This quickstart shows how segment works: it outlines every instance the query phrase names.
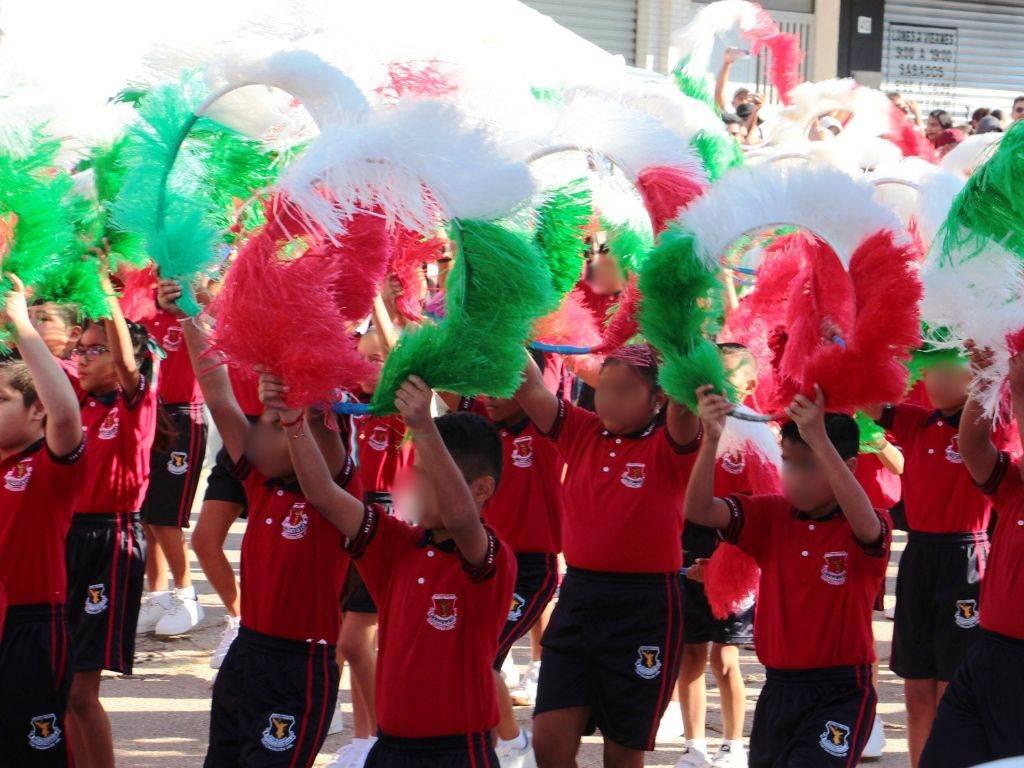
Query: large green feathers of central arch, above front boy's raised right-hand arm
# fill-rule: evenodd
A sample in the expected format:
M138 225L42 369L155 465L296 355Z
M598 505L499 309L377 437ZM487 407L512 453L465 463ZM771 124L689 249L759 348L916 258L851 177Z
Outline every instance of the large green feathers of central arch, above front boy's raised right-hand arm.
M398 387L417 375L433 389L511 397L534 323L552 304L543 254L524 234L485 221L454 221L457 257L446 314L401 337L381 371L371 409L394 413Z

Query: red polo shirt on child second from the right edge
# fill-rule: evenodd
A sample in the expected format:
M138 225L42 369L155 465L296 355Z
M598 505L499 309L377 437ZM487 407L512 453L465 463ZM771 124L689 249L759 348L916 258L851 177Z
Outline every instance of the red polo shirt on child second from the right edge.
M910 530L969 534L988 526L992 503L979 493L959 455L959 414L908 403L885 410L881 425L905 457L903 504Z

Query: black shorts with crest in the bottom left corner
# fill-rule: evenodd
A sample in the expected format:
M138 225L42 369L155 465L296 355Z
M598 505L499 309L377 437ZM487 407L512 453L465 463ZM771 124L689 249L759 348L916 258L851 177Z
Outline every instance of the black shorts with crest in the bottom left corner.
M9 768L71 765L68 623L62 605L11 605L0 641L0 722Z

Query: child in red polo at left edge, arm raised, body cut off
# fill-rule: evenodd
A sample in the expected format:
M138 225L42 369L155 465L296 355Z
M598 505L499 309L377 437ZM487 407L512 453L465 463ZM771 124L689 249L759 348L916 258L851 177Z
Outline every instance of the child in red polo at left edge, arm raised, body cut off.
M65 539L85 475L82 417L68 377L29 318L20 281L5 297L22 362L0 365L0 640L3 763L68 766L71 684Z

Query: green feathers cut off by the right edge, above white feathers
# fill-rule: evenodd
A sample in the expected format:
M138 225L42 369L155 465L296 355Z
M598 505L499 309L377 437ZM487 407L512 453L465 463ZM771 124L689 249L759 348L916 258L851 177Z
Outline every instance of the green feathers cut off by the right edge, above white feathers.
M1024 120L1002 136L995 154L978 168L953 200L943 224L943 263L951 254L978 254L987 241L1024 260Z

